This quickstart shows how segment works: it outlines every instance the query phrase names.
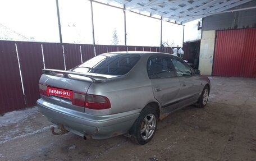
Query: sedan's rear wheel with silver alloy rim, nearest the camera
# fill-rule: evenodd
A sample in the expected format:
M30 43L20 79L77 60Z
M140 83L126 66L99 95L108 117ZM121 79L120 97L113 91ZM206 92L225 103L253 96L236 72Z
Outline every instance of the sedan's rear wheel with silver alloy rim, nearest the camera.
M157 130L157 112L149 105L145 107L130 130L131 141L135 144L147 144Z

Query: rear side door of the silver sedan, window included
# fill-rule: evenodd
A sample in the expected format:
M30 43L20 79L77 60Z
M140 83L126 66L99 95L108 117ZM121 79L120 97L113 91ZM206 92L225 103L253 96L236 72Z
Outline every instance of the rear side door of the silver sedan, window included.
M147 65L148 76L152 82L154 97L161 103L162 112L177 108L180 96L180 82L176 77L171 57L152 56Z

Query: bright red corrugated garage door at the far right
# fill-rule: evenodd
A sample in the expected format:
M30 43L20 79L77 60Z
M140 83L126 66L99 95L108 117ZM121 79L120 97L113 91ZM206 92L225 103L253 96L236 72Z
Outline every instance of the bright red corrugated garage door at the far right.
M217 31L213 76L256 77L256 28Z

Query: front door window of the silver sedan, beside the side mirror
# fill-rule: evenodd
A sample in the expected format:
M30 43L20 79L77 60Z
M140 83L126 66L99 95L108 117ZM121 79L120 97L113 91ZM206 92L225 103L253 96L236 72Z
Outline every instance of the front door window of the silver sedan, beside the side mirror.
M172 58L172 63L177 72L177 76L191 76L190 67L186 64L186 62L181 61L180 59Z

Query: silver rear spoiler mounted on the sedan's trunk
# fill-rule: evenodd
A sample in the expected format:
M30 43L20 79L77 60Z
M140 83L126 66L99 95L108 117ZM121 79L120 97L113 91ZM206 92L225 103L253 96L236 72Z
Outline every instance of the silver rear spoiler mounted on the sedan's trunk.
M73 72L73 71L63 71L63 70L53 70L53 69L43 69L42 71L45 75L54 75L54 76L56 76L57 74L62 74L63 77L66 77L66 78L68 78L68 74L84 76L84 77L88 77L93 82L100 81L102 79L107 79L106 77L102 77L102 76L90 76L90 75L86 75L84 73ZM95 77L99 78L99 80L95 79Z

